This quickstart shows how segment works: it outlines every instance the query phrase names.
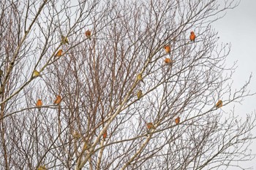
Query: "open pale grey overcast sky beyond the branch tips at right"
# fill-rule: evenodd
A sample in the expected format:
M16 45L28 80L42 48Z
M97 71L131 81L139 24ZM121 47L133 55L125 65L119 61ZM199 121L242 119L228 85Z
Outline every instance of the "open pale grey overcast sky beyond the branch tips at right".
M236 88L241 87L252 73L249 89L256 92L256 0L241 0L238 7L228 10L224 18L214 23L214 27L219 32L219 40L232 45L227 63L238 61L238 68L233 76ZM245 98L242 105L236 104L239 115L252 113L255 109L256 96ZM256 129L253 134L256 136ZM256 153L256 140L251 149ZM256 159L246 164L241 163L243 164L256 169Z

